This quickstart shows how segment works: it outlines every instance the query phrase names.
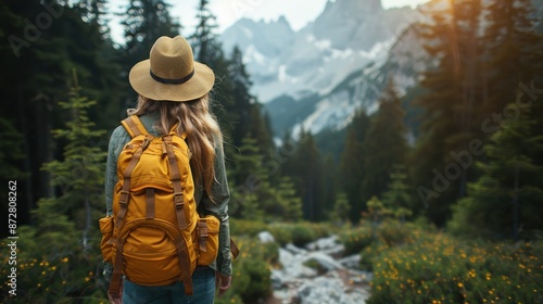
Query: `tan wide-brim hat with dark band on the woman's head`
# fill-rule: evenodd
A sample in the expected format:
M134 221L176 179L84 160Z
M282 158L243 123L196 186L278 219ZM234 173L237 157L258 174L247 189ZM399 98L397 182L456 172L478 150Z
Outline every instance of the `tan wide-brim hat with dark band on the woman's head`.
M215 84L215 74L207 65L194 61L187 39L163 36L154 42L149 59L130 69L128 79L143 97L182 102L205 96Z

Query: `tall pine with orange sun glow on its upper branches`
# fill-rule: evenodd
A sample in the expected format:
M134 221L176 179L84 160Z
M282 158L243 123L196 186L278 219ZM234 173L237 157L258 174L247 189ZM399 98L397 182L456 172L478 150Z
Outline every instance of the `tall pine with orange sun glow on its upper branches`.
M416 101L422 109L420 138L409 161L417 197L439 225L445 223L450 206L465 194L473 173L464 169L443 189L433 189L434 172L443 172L452 161L451 152L466 149L481 132L478 101L482 99L479 79L483 78L478 42L481 1L451 0L447 4L446 9L428 11L431 23L420 26L425 50L438 60L438 66L422 73L420 86L426 93Z

